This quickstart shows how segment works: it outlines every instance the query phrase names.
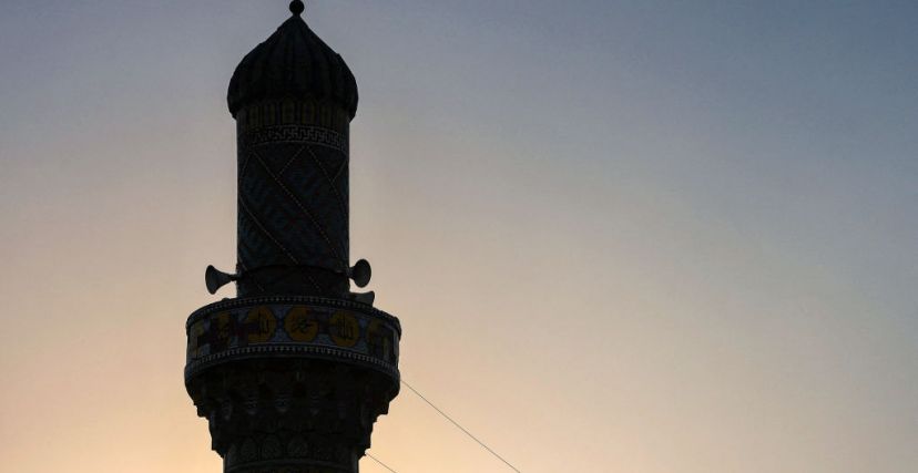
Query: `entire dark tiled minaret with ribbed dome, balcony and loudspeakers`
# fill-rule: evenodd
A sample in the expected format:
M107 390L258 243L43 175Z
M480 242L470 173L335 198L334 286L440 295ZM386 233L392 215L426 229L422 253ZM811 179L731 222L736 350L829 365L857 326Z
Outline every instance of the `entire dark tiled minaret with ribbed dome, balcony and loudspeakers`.
M238 147L237 297L188 317L185 387L226 473L356 473L398 394L395 317L349 265L348 141L357 83L293 16L230 82Z

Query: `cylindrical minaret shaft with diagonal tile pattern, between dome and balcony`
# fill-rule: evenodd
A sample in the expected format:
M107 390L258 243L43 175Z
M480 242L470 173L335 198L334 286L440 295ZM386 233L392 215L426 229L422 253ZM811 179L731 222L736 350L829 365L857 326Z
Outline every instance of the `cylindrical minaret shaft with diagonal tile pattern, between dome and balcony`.
M239 296L334 292L329 284L346 284L346 143L344 134L292 124L239 136Z

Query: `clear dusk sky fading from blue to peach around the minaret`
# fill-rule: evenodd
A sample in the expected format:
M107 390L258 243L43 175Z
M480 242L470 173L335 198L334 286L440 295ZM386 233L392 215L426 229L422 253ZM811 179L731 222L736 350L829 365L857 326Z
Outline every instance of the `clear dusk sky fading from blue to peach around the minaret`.
M221 471L184 322L286 3L3 0L4 471ZM402 376L520 470L915 471L918 3L308 3ZM371 453L507 471L407 391Z

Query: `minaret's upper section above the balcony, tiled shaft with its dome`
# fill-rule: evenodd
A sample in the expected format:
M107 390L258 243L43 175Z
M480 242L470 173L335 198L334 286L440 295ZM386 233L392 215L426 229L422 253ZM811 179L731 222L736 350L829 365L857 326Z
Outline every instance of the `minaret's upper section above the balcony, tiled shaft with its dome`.
M239 297L340 297L354 74L294 14L242 60L228 103L238 140Z

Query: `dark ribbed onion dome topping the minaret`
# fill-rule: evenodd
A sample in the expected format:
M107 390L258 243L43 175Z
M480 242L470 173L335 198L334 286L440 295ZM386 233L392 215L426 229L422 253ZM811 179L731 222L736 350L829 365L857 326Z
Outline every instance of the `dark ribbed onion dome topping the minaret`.
M294 13L243 58L230 81L230 113L274 99L328 100L357 113L357 82L344 59Z

